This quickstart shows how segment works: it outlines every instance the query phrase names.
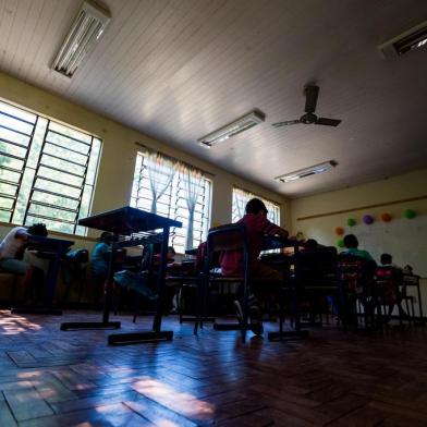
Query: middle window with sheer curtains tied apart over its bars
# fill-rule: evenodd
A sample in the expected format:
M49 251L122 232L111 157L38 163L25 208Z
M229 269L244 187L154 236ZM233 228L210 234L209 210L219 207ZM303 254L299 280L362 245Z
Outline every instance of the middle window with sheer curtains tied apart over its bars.
M188 182L192 172L195 175ZM196 247L206 239L210 193L211 181L199 171L159 154L137 154L131 206L181 221L183 227L172 229L170 239L178 253L183 254L187 246Z

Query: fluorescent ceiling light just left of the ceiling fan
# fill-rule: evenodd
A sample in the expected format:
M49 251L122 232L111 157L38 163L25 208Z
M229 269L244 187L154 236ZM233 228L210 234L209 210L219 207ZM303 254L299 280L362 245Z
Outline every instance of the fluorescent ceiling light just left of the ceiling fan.
M237 135L241 132L247 131L248 129L254 127L259 123L263 123L265 120L266 114L264 112L259 110L254 110L248 114L243 115L237 120L234 120L234 122L231 122L225 126L222 126L219 130L213 131L202 138L198 138L197 143L206 148L210 148L211 146L222 143L223 141L231 138L232 136Z

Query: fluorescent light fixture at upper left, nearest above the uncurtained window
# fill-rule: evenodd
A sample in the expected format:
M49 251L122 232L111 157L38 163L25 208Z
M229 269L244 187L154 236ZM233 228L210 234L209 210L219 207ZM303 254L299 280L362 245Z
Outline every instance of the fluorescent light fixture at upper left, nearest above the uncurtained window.
M52 69L71 78L83 58L98 42L110 19L107 10L86 0L59 49Z

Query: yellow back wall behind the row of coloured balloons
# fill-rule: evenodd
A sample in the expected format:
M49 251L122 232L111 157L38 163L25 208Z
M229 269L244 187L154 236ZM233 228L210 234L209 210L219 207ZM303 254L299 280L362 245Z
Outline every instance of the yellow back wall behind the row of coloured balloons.
M427 259L427 199L415 202L405 202L396 205L386 205L377 208L355 210L354 208L386 204L388 202L401 200L412 197L427 195L427 169L414 171L403 175L393 176L382 181L371 182L365 185L358 185L335 192L319 194L312 197L304 197L292 200L292 231L302 231L306 236L314 237L320 243L334 245L338 235L334 233L337 227L343 227L345 232L359 233L365 236L365 242L361 240L361 247L367 251L377 249L383 252L392 252L396 263L414 263L419 265L423 276L427 269L424 259ZM403 218L403 211L412 208L417 212L417 218L410 221ZM333 212L343 209L354 209L350 212L329 215L314 219L298 220L298 218L315 216L326 212ZM380 221L380 216L389 212L393 216L393 220L389 224ZM376 218L376 222L370 225L362 225L362 217L370 213ZM347 218L355 218L359 225L350 228L346 225ZM406 228L407 233L402 230ZM378 247L380 242L373 241L375 236L379 236L379 232L388 233L387 242L389 247ZM398 234L400 232L401 234ZM399 240L393 239L393 233L399 235ZM386 236L386 234L385 234ZM371 245L371 246L370 246ZM391 247L390 247L391 246ZM415 254L416 253L416 254Z

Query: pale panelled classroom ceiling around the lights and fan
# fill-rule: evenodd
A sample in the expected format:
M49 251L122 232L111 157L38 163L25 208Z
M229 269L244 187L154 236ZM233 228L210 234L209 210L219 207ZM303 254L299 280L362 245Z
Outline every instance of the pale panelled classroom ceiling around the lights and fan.
M378 50L427 20L425 0L103 0L111 24L69 80L50 65L81 3L0 0L0 69L289 197L427 166L427 48ZM312 82L316 112L342 123L273 129L300 118ZM196 144L254 108L265 123Z

